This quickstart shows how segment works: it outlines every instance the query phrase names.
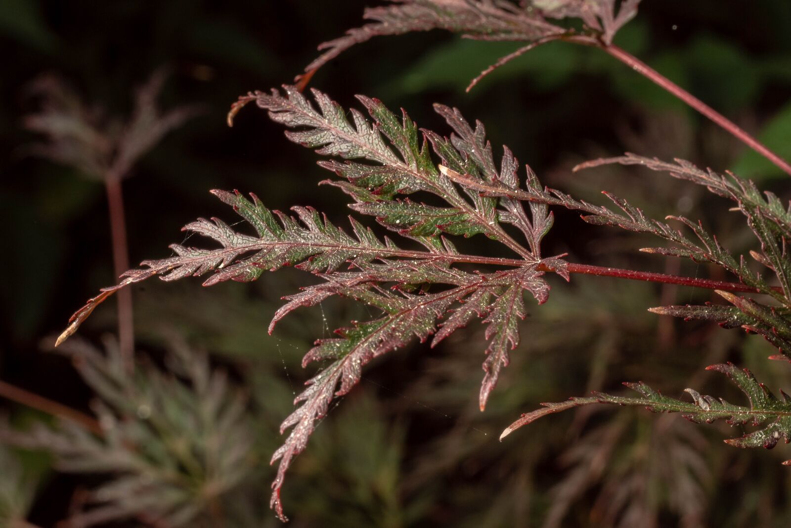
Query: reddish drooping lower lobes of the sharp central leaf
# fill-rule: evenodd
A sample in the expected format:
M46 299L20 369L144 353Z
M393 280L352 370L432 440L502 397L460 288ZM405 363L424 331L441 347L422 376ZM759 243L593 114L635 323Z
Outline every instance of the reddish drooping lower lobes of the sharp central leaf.
M413 264L414 265L414 264ZM280 501L280 489L293 457L301 453L308 438L316 427L316 420L327 414L334 397L348 393L361 376L366 363L379 355L403 347L414 338L424 341L433 334L436 321L445 316L455 302L464 302L448 317L440 332L434 337L432 346L444 339L454 330L466 325L472 317L486 317L489 323L486 338L491 339L490 354L484 362L486 377L481 389L481 410L486 398L497 383L499 370L507 365L507 348L515 348L519 342L517 321L524 317L525 290L539 302L547 300L549 286L541 278L542 272L535 266L492 274L472 275L446 268L435 268L426 275L426 265L414 265L414 279L409 278L408 267L396 273L407 273L395 277L393 270L383 268L380 274L376 269L364 272L323 275L326 284L307 287L301 294L293 295L290 302L275 315L275 320L283 317L297 306L312 306L331 294L340 294L376 306L385 315L373 321L357 323L353 327L336 330L339 338L324 339L316 342L316 347L308 351L303 366L312 361L333 359L328 367L308 381L305 389L294 400L302 404L281 425L281 431L294 426L285 443L275 451L272 463L280 460L278 476L272 484L274 490L271 507L285 519ZM398 279L401 283L453 284L449 290L433 294L400 294L382 290L378 284ZM494 298L494 302L491 299ZM274 322L274 321L273 321ZM337 389L336 389L337 388Z

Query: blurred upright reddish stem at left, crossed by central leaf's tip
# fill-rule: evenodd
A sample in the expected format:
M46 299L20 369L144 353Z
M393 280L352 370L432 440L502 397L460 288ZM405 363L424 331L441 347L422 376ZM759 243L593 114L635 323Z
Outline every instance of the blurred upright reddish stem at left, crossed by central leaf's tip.
M129 266L127 249L127 222L123 212L123 189L121 178L108 175L104 178L110 211L110 231L112 237L112 263L115 276L126 272ZM134 365L134 314L132 312L132 292L124 289L118 294L118 340L121 357L128 371Z

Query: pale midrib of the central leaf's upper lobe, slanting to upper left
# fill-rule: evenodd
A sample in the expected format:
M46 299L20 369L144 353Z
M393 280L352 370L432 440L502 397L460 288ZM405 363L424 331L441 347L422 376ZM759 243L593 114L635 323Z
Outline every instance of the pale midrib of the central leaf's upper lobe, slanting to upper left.
M304 109L300 108L296 104L293 104L290 98L288 97L281 97L281 99L284 102L287 101L287 103L289 104L290 112L297 112L301 116L307 117L313 123L316 123L316 128L327 128L327 127L331 128L331 130L335 134L343 137L343 139L345 139L346 141L352 142L355 145L360 146L362 150L371 153L373 159L382 160L382 156L384 155L387 158L386 161L389 161L390 163L392 163L392 165L399 167L399 169L402 169L405 173L408 173L411 176L415 177L416 179L422 181L423 184L428 185L430 188L433 189L433 192L437 194L437 196L441 196L442 198L446 199L448 203L450 203L453 207L457 207L460 209L460 211L463 211L467 215L471 215L473 218L475 218L478 221L479 225L483 226L483 230L487 235L502 241L502 243L507 245L509 249L513 250L513 252L524 257L525 259L532 258L528 249L525 249L522 245L519 244L519 242L513 240L513 237L505 233L505 230L503 230L501 226L498 226L497 223L494 223L494 225L490 225L488 220L484 218L483 215L479 214L479 211L477 211L474 207L470 207L470 204L467 203L467 200L459 196L455 188L440 187L435 182L430 180L430 178L427 178L421 171L412 167L411 165L403 161L401 158L396 156L392 150L388 148L386 148L384 152L378 152L377 150L373 150L371 146L369 146L365 142L361 142L360 139L358 139L358 135L350 135L346 133L346 131L344 131L342 128L336 127L335 125L331 124L328 120L321 120L315 115L312 115L309 112L305 112Z

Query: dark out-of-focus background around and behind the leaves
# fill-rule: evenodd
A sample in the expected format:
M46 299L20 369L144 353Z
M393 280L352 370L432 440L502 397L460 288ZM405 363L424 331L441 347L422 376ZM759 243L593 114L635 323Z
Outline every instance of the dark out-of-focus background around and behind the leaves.
M132 169L123 188L129 253L136 263L168 256L193 218L235 221L212 188L255 192L267 207L310 205L343 223L348 201L317 188L330 174L316 154L287 141L254 108L225 124L229 104L252 89L291 82L316 45L360 25L370 2L0 2L0 222L4 226L0 379L82 410L91 393L67 359L41 351L81 302L114 283L102 185L78 170L28 155L40 141L23 117L36 112L29 86L55 74L108 116L131 112L134 89L162 66L161 108L199 104L187 121ZM691 93L791 158L791 3L645 0L616 39ZM784 175L626 66L600 51L555 43L517 59L471 93L467 82L517 44L462 40L441 32L374 39L325 66L311 85L345 107L354 94L407 108L422 127L448 130L435 101L479 119L495 150L503 143L544 184L603 203L611 190L649 215L702 218L736 252L749 231L705 190L656 173L598 169L579 161L625 150L733 169L788 199ZM570 260L712 276L635 250L656 241L587 226L558 211L545 253ZM194 241L194 239L192 240ZM192 242L191 241L191 242ZM475 248L477 241L469 241ZM486 251L482 249L474 249ZM725 277L723 277L725 278ZM163 348L163 321L240 372L268 416L260 442L278 445L276 425L307 378L299 362L313 338L357 314L343 303L303 310L274 337L266 326L278 298L311 278L293 270L258 283L204 290L198 280L144 283L134 290L138 348ZM522 345L501 375L486 413L477 411L485 348L478 328L430 350L415 345L374 362L333 408L286 482L295 526L783 526L791 521L789 473L775 452L721 443L740 431L692 427L680 416L638 409L553 416L497 442L501 429L535 408L591 389L643 379L678 395L687 386L729 393L702 374L724 360L751 367L776 389L787 366L766 362L758 337L709 325L664 321L650 306L699 302L710 292L575 276L555 280L550 302L530 306ZM81 335L115 332L115 302ZM713 325L712 325L713 326ZM483 327L482 327L483 328ZM285 369L284 369L285 367ZM255 373L255 375L249 374ZM312 370L310 370L312 372ZM250 378L256 378L251 382ZM278 390L271 387L279 387ZM788 387L788 385L786 385ZM297 387L298 389L298 387ZM717 392L718 391L718 392ZM0 401L24 420L30 411ZM23 418L18 418L22 416ZM784 451L785 453L780 453ZM31 462L32 461L32 462ZM28 458L31 465L39 464ZM273 471L262 463L261 501ZM0 475L2 479L2 475ZM83 477L44 472L31 517L66 516ZM266 518L269 522L269 517ZM637 519L637 520L635 520ZM783 520L785 519L785 520ZM554 524L552 524L554 522ZM546 524L545 524L546 523Z

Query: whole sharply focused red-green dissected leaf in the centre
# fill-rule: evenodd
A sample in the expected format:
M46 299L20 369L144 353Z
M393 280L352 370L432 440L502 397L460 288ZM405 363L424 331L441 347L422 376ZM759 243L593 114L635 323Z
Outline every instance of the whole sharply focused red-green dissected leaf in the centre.
M310 207L293 207L295 215L290 216L269 211L255 195L248 199L239 192L214 191L255 228L255 235L240 233L218 218L200 218L187 224L184 230L211 238L221 247L172 245L175 256L146 260L142 263L146 268L127 272L121 283L104 289L75 313L69 329L59 338L60 343L70 336L108 295L153 275L176 280L211 272L206 286L229 279L255 280L265 270L286 265L316 275L320 283L285 298L286 303L274 313L270 332L292 310L315 306L335 295L380 310L380 317L339 329L338 338L316 342L305 355L305 365L325 359L333 363L308 382L308 388L294 402L301 405L282 424L282 431L293 427L272 458L273 463L279 460L280 464L271 506L282 519L280 489L286 470L293 457L305 449L316 420L327 414L334 397L347 393L359 381L366 363L409 344L413 338L426 340L443 319L432 344L479 317L487 325L486 339L490 340L479 397L483 410L501 367L509 362L509 349L519 343L518 323L525 316L524 292L540 304L549 294L544 271L553 270L569 279L564 260L541 256L541 239L552 225L546 203L530 203L526 211L518 198L486 196L476 187L503 184L519 188L517 159L505 148L498 169L483 124L472 127L458 110L437 105L437 112L453 129L450 138L445 138L432 131L421 133L405 112L399 118L375 99L358 97L369 121L361 112L347 114L323 93L314 90L314 97L316 108L297 89L286 86L285 96L274 90L242 97L233 111L255 101L269 110L273 120L290 128L286 135L293 141L346 160L323 161L321 165L343 177L331 184L354 198L350 207L372 215L383 226L420 242L425 249L400 249L354 220L351 236ZM435 164L430 156L432 149L444 165ZM460 182L456 171L475 184ZM544 193L529 168L527 186L531 196ZM447 207L416 203L403 196L418 191L443 199ZM506 233L502 222L516 226L528 248ZM460 254L441 234L486 234L512 249L520 259ZM454 267L456 263L505 265L509 269L470 273ZM345 265L348 269L342 271Z

